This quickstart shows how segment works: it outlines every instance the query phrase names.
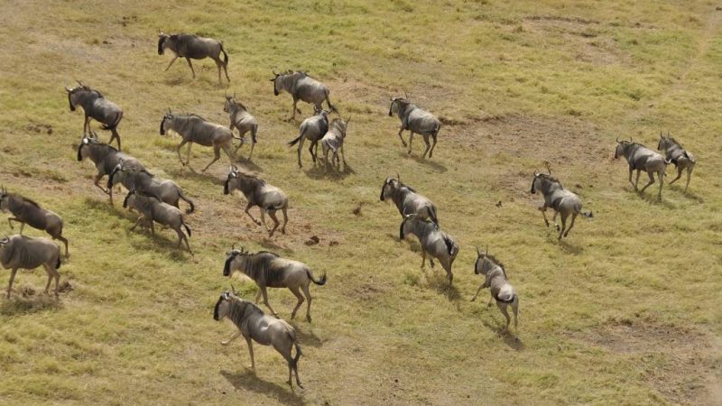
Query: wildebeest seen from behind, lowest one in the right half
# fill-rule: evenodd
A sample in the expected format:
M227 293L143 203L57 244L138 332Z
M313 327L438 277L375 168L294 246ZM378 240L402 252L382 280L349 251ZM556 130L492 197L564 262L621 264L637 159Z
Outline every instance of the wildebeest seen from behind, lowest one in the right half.
M506 318L505 331L509 331L509 322L511 321L511 318L509 317L509 313L506 311L506 306L511 304L512 311L514 311L514 330L517 330L516 316L519 312L519 296L516 294L514 286L512 286L506 279L504 264L500 263L494 256L490 255L488 253L488 248L486 248L486 253L481 254L479 247L477 246L477 263L474 264L474 273L477 275L479 273L484 275L484 283L479 286L477 294L474 295L474 298L471 301L477 300L477 296L482 289L491 288L491 299L486 306L490 307L492 300L496 300L496 306L498 306L499 310L502 311L502 314L504 314L504 317Z

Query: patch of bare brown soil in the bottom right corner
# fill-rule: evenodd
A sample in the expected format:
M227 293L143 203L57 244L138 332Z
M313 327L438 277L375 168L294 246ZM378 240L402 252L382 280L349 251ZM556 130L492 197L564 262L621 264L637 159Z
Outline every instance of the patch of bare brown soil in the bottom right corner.
M582 339L638 359L646 381L672 403L707 404L719 387L719 348L704 333L641 321L606 324Z

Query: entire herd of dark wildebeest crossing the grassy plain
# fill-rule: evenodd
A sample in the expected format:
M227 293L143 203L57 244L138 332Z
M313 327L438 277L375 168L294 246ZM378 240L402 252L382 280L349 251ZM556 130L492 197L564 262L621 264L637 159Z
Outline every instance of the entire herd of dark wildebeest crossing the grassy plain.
M173 58L168 65L171 68L173 61L177 58L185 58L195 78L195 70L190 62L191 59L210 58L215 60L218 67L218 80L221 80L221 69L226 73L228 55L223 48L222 42L214 39L200 38L195 35L178 33L161 33L158 40L158 53L171 51ZM221 59L221 55L223 59ZM320 164L318 156L318 143L321 143L323 154L324 170L329 166L340 171L341 162L346 166L344 154L344 140L347 136L350 117L342 118L338 108L331 104L329 87L311 78L303 71L286 71L283 73L273 72L273 93L278 96L282 92L288 92L292 96L292 117L295 120L296 113L301 113L298 108L298 101L309 103L314 108L314 114L303 120L300 125L300 134L297 138L288 143L289 146L298 144L298 164L301 167L301 150L304 141L310 142L309 152L314 164ZM83 135L79 142L77 151L78 161L92 161L97 169L94 178L94 185L108 195L110 204L113 204L113 189L122 185L127 189L123 200L123 207L135 210L139 213L134 226L143 223L155 232L155 223L168 226L178 235L179 248L185 247L190 253L189 237L191 236L190 226L186 223L186 216L191 216L195 205L186 196L180 186L172 180L163 180L146 170L143 163L127 153L121 152L121 139L117 127L123 118L123 110L115 103L107 100L97 89L89 88L78 81L76 88L66 87L69 100L69 108L74 111L77 106L82 107L85 115L83 122ZM329 110L324 110L322 103L326 103ZM258 123L248 108L244 106L236 96L226 96L223 106L224 112L229 115L230 125L218 125L212 123L200 115L195 114L173 114L169 109L162 115L160 122L160 134L178 134L181 142L176 148L178 158L183 166L190 165L190 147L192 143L213 147L213 160L208 162L203 171L208 170L213 163L221 158L221 150L230 160L230 171L224 182L223 192L231 194L239 190L245 197L245 213L258 226L264 226L269 236L273 236L280 227L281 233L286 233L288 223L287 209L289 198L285 192L278 189L257 174L245 168L239 168L239 161L236 152L245 143L251 143L247 160L253 158L255 143L257 143ZM329 119L329 115L336 114L338 117ZM391 97L388 115L398 115L401 125L398 136L403 147L408 146L408 152L412 153L412 140L414 134L421 134L426 148L422 158L432 158L434 149L438 142L441 129L440 120L430 112L423 110L411 102L409 97ZM97 138L97 134L90 129L90 119L99 122L104 130L111 132L108 143L103 143ZM234 131L238 132L238 135ZM403 139L403 131L408 130L408 144ZM245 134L250 133L250 141ZM117 143L117 149L110 145L113 141ZM239 144L234 149L234 140ZM181 148L188 144L186 158L181 156ZM691 172L695 166L695 159L690 152L687 152L669 134L660 134L660 141L654 152L641 143L616 140L615 158L625 157L629 165L629 181L637 189L639 177L645 171L649 181L640 190L640 193L659 181L658 196L662 197L662 184L664 173L669 163L677 166L677 177L671 181L679 180L682 172L687 172L687 183L685 191L690 186ZM329 162L329 153L331 155ZM340 155L340 159L339 159ZM241 164L242 165L242 164ZM242 165L243 166L243 165ZM546 216L546 210L551 208L554 212L552 222L560 216L561 226L557 226L558 239L567 237L569 231L574 227L576 218L581 214L584 217L592 217L591 212L582 212L582 202L579 196L565 189L560 180L551 176L551 169L547 166L548 173L533 171L531 193L539 191L544 198L543 205L539 207L546 226L550 226ZM633 181L633 173L636 171L636 180ZM107 176L105 188L99 183ZM656 179L655 179L656 176ZM179 203L183 200L188 206L185 213L180 210ZM458 242L440 228L440 220L437 213L437 206L425 198L411 186L402 182L397 174L395 178L386 178L381 187L381 201L390 201L398 209L401 215L399 226L399 238L405 239L408 235L415 235L421 245L421 268L426 264L429 256L430 267L434 266L434 260L440 263L447 273L449 284L453 282L452 266L458 256ZM257 206L260 209L261 219L258 220L250 213L250 209ZM51 281L55 280L55 296L58 296L61 265L59 245L41 237L29 237L23 235L23 227L27 224L33 228L47 232L53 240L59 240L65 245L65 256L69 256L68 240L63 236L62 218L40 205L18 194L8 192L5 187L0 189L0 210L10 213L8 224L13 228L13 222L20 223L20 234L5 236L0 239L0 263L5 269L11 270L10 281L7 288L7 298L10 298L15 273L19 269L34 269L43 266L48 273L48 283L45 292L48 293ZM283 221L279 221L276 213L282 212ZM273 226L267 226L265 215L273 220ZM568 224L569 221L569 224ZM508 332L511 318L507 307L511 306L514 313L514 328L516 328L516 316L519 308L519 296L509 282L504 265L488 252L488 248L482 253L477 247L477 261L473 265L475 274L482 274L485 281L479 286L477 293L472 300L476 300L479 291L489 288L492 301L495 301L506 319L505 330ZM249 253L243 247L236 249L234 246L226 254L226 261L223 266L223 275L231 276L234 272L242 272L255 281L258 292L255 303L245 300L235 291L224 291L220 294L218 302L213 311L216 320L222 318L230 319L237 327L236 333L229 340L222 342L227 345L238 336L243 336L248 345L251 357L251 366L255 370L253 341L264 345L273 346L287 361L289 368L288 383L292 385L292 374L295 374L296 383L301 386L298 374L298 362L301 356L301 346L295 329L287 322L279 318L273 310L267 298L267 288L287 288L296 296L298 302L292 309L291 318L306 302L306 319L311 321L310 307L311 295L310 284L324 285L327 282L324 272L319 278L313 275L310 267L304 263L292 259L282 258L270 252ZM264 315L264 311L256 304L263 297L264 305L273 313L275 318ZM295 348L295 355L292 356L292 349Z

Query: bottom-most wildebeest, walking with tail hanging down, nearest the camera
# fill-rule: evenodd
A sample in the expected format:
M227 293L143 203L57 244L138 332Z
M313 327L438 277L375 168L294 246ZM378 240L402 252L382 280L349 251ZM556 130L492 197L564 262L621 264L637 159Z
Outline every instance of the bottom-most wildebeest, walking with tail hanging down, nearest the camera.
M299 358L301 357L301 346L299 346L296 330L290 324L280 318L272 318L264 315L264 311L248 300L236 296L236 292L223 292L213 309L213 318L220 321L228 318L233 321L238 331L227 341L221 344L227 346L238 336L245 338L248 344L248 353L251 355L251 369L255 374L254 344L253 341L262 346L273 346L288 362L288 384L293 388L291 380L292 372L296 374L296 383L299 387ZM292 347L296 347L296 356L291 356Z

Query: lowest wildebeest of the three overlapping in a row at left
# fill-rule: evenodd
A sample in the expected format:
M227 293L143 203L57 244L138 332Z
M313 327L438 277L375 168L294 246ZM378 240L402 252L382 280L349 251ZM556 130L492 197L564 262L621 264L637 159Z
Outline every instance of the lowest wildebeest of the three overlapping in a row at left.
M183 234L180 226L186 228L189 236L190 228L186 226L186 223L183 221L183 212L180 211L179 208L174 208L167 203L163 203L154 196L136 193L135 190L129 191L128 195L125 196L125 200L123 200L123 208L127 208L128 206L138 210L141 214L141 216L135 220L135 224L130 228L131 231L133 231L142 220L150 222L152 235L155 235L153 222L157 222L162 226L170 226L175 230L176 234L178 234L178 247L180 248L183 241L185 241L186 248L188 248L188 252L191 253L188 237Z

